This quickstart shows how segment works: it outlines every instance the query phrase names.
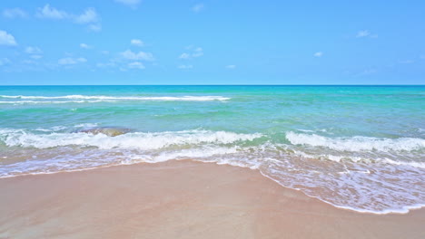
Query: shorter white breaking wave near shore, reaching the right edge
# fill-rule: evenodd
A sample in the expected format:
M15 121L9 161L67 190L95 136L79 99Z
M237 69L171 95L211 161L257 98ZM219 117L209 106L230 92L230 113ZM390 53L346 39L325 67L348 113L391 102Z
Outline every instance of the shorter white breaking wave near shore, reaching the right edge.
M286 133L288 139L294 145L306 145L312 147L325 147L339 151L411 151L425 148L425 139L400 138L400 139L380 139L372 137L351 137L351 138L327 138L316 134Z

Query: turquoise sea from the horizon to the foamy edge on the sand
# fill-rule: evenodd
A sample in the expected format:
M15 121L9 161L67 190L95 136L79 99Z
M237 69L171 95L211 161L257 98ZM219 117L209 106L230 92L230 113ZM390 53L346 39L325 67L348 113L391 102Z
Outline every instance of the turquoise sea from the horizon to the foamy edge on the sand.
M424 115L425 86L1 86L0 177L191 158L406 212L425 205Z

